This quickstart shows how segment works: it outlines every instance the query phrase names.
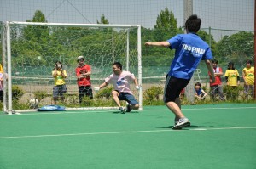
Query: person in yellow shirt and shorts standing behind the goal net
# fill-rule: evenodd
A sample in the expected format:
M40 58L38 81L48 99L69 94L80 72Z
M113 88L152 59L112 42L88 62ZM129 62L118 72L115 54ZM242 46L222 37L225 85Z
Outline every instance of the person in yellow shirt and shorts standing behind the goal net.
M52 71L52 76L55 79L55 85L53 87L53 101L56 104L56 101L61 98L63 102L65 99L64 93L67 93L67 87L65 79L67 78L66 70L62 69L62 63L57 61L55 63L55 68Z

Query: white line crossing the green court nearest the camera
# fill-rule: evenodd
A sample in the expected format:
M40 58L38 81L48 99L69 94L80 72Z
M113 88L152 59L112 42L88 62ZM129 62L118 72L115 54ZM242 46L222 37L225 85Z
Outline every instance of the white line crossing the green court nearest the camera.
M69 133L69 134L49 134L37 136L6 136L0 139L9 138L48 138L48 137L65 137L65 136L83 136L83 135L103 135L103 134L124 134L124 133L142 133L142 132L185 132L185 131L207 131L207 130L231 130L231 129L256 129L256 127L219 127L219 128L186 128L184 130L148 130L148 131L130 131L130 132L84 132L84 133Z

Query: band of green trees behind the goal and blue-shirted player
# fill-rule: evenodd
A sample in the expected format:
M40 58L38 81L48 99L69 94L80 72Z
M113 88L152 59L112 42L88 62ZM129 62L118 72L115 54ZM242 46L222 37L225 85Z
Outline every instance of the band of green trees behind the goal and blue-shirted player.
M37 10L28 22L47 22L44 14ZM102 14L100 20L96 20L97 24L109 24L108 19ZM55 62L55 56L61 56L62 59L74 57L73 62L67 65L73 65L75 58L80 54L88 54L89 57L96 54L93 48L102 48L105 51L97 59L103 59L106 55L113 52L115 56L125 58L125 53L112 51L113 42L105 42L106 38L115 35L121 35L121 31L114 31L112 28L78 28L78 27L49 27L38 26L34 29L32 25L18 26L12 31L12 57L15 64L22 65L44 65L49 62ZM144 42L166 41L171 37L183 33L182 29L177 27L177 19L172 11L168 8L160 11L157 16L153 29L142 27L142 51L143 66L169 66L174 57L174 50L169 48L146 48ZM239 65L244 64L246 59L253 57L253 33L240 31L230 36L224 36L219 42L214 41L213 36L207 31L199 31L198 35L205 42L211 40L212 54L219 58L220 62L233 61ZM131 44L137 42L137 31L130 31ZM95 44L91 42L97 42ZM114 39L114 44L121 45L126 48L122 40ZM111 51L111 52L110 52ZM22 56L22 57L21 57ZM53 56L53 57L50 57ZM48 57L45 59L45 57ZM40 58L40 59L38 59ZM94 62L94 60L90 60Z

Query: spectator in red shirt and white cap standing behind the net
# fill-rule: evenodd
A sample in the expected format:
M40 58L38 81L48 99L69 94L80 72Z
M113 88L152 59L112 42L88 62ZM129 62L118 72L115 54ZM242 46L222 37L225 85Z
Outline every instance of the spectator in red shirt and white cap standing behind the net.
M79 86L79 104L82 104L84 96L89 97L89 99L93 99L90 82L91 69L90 65L84 64L84 56L79 56L77 61L79 64L76 68L76 76L78 78Z

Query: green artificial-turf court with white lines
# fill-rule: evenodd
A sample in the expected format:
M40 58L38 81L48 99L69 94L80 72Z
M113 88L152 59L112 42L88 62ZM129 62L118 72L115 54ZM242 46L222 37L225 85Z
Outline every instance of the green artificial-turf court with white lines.
M0 169L255 169L256 104L0 115Z

